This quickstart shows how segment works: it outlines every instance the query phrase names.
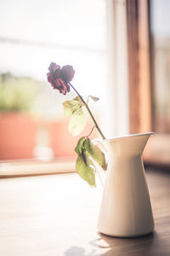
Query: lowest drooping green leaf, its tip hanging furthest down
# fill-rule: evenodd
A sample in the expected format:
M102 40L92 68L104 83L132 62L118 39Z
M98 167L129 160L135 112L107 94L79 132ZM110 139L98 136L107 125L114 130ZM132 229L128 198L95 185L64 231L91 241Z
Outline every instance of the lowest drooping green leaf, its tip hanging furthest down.
M87 159L86 159L87 160ZM89 166L89 161L86 162L82 155L79 155L77 158L77 173L82 177L91 187L95 187L95 174L93 164Z

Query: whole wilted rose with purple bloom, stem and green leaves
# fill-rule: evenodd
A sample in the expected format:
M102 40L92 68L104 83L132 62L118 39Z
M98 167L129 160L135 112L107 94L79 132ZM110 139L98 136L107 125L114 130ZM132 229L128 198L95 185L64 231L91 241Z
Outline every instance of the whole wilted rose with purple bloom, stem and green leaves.
M75 151L77 153L77 173L85 179L92 187L95 186L95 166L94 162L97 162L99 166L105 169L105 154L103 154L100 149L95 146L89 139L92 131L96 128L99 131L99 134L103 139L105 139L103 133L99 129L99 125L96 123L94 119L94 115L91 113L88 108L88 99L85 102L76 88L70 83L74 77L74 69L72 66L66 65L60 68L59 65L51 62L48 67L49 72L48 82L53 86L54 89L59 90L60 93L66 94L70 91L70 88L77 93L77 97L74 97L70 101L63 102L63 107L65 110L65 115L71 116L71 121L69 123L68 131L72 136L78 136L81 134L86 125L86 114L84 113L84 109L87 109L91 119L94 122L94 126L88 136L80 138L77 143L77 147ZM94 96L88 96L88 98L97 102L99 98ZM94 162L93 162L94 160Z

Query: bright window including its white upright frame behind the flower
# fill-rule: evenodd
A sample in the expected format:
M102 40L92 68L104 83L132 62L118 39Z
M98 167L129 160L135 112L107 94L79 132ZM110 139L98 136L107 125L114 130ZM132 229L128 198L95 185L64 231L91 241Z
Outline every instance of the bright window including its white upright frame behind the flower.
M81 95L100 98L97 103L90 102L90 108L105 137L127 134L126 1L11 3L8 0L0 4L0 52L3 56L0 83L5 88L1 96L5 99L4 105L7 102L9 105L5 105L5 111L4 106L0 107L1 160L34 158L63 163L65 158L74 159L78 138L71 137L67 131L69 120L64 117L61 102L75 94L62 96L49 86L46 73L51 61L61 66L72 65L76 70L73 83ZM10 92L11 98L8 98L9 88L14 92ZM26 100L23 102L23 99ZM16 110L20 111L16 113ZM17 123L16 127L8 120L10 116ZM3 131L7 131L7 127L5 137ZM88 122L83 135L91 128ZM18 170L18 163L20 165L20 161L14 162L13 170L14 165ZM30 166L27 161L27 169L32 163L33 171L29 173L40 173L34 161L29 161ZM6 164L1 167L6 172ZM54 169L50 172L57 172ZM73 169L71 165L70 169ZM48 172L47 167L45 170Z

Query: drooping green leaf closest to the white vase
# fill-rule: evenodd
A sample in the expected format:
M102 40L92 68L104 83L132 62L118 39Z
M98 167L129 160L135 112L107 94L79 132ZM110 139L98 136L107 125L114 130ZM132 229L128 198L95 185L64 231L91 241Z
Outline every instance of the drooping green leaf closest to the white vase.
M103 152L97 146L94 146L90 139L87 139L83 143L83 145L86 151L88 152L89 156L91 156L93 160L96 161L99 164L99 166L101 166L105 170L105 154L103 154Z

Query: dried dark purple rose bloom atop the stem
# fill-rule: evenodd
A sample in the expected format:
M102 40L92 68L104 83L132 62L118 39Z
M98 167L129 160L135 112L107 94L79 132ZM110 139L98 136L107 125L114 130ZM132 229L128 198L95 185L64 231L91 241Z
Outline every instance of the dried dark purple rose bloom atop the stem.
M48 82L53 86L53 88L59 90L59 92L64 95L69 92L69 83L73 79L75 73L73 67L70 65L66 65L60 68L59 65L51 62L48 70Z

